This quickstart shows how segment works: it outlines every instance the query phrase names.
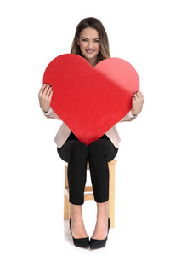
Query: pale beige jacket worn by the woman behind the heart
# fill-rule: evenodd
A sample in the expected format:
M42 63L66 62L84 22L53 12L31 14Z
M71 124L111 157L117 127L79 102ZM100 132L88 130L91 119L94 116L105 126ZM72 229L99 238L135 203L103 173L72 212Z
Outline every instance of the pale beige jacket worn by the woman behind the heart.
M58 115L54 113L53 110L52 110L52 113L50 113L49 115L45 114L45 116L47 118L61 120L59 119ZM132 115L130 117L130 113L127 113L127 115L120 122L131 121L134 118L135 117L132 117ZM63 144L65 143L65 141L67 140L70 134L71 134L71 130L65 125L65 123L62 123L62 125L59 128L59 131L57 132L57 135L54 137L54 142L57 144L58 148L61 148L63 146ZM119 137L119 134L116 130L116 126L111 127L111 129L107 131L105 134L107 137L110 138L111 142L115 145L115 147L119 148L119 143L121 141L121 138Z

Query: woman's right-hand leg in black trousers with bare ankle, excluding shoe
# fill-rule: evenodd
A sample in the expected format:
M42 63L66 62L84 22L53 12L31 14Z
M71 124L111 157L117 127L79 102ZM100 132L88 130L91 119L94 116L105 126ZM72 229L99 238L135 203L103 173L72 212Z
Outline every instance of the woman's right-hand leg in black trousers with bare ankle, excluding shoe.
M93 239L103 240L108 232L108 200L109 200L109 167L118 149L105 137L88 146L88 160L94 189L94 199L97 202L97 222Z

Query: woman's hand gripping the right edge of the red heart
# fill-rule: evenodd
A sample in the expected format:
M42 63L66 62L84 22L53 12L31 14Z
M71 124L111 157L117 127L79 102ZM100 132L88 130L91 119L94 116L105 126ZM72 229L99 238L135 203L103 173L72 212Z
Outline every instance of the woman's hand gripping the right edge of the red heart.
M137 115L142 111L143 108L143 104L144 104L144 96L142 94L142 92L137 91L133 94L133 99L132 99L132 111L131 113L133 115Z

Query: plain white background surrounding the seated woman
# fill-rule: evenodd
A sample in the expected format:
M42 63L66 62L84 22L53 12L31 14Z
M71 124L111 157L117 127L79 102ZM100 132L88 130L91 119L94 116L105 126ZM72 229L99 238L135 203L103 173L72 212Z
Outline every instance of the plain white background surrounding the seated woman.
M102 21L111 56L139 73L144 110L117 125L116 227L98 255L170 255L169 1L2 1L0 254L87 254L63 221L64 163L54 144L60 122L46 119L38 91L48 62L69 53L85 17ZM96 206L83 206L88 235ZM112 254L111 254L112 253Z

